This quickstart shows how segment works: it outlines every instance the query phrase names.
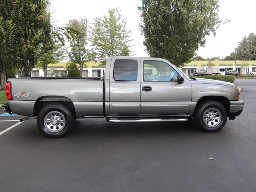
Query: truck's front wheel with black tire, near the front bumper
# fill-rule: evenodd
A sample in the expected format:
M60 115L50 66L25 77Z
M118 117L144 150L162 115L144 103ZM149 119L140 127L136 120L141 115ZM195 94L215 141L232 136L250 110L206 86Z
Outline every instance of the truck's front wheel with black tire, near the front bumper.
M202 131L221 130L227 121L226 108L217 101L208 100L200 103L194 112L194 124Z

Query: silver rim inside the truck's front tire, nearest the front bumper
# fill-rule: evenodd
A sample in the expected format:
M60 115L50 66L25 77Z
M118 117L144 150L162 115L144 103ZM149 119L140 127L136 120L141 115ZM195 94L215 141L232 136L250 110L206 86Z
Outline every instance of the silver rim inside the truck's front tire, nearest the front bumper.
M208 127L215 127L220 124L222 120L222 115L220 110L217 108L208 108L204 112L204 124Z

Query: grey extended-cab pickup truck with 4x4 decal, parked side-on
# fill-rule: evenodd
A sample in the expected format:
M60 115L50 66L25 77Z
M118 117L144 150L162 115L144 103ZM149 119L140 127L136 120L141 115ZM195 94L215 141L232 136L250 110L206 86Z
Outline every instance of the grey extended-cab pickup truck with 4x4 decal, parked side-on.
M190 78L167 60L144 57L109 57L100 79L9 78L6 95L4 112L37 118L48 137L64 136L77 118L104 117L108 122L193 117L199 129L216 132L244 107L234 84Z

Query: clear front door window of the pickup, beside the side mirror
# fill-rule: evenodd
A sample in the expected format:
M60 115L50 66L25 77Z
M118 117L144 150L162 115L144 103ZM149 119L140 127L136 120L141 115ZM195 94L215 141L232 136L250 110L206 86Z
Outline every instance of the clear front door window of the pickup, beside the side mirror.
M144 81L178 82L178 73L170 65L162 61L144 60L143 71Z

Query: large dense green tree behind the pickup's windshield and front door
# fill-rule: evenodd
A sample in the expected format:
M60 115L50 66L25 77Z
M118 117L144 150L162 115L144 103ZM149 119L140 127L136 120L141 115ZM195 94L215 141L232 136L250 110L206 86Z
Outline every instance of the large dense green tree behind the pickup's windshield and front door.
M190 61L221 23L218 0L142 0L140 28L146 52L176 66Z

